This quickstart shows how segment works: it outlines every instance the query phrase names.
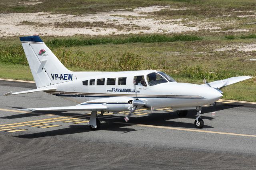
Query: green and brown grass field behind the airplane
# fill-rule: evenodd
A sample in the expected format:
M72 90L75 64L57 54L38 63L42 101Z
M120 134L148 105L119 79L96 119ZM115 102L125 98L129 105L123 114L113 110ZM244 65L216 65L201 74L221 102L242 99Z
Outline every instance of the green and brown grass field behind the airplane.
M255 17L247 17L256 13L255 0L44 0L42 2L39 0L38 4L34 5L28 5L27 2L2 0L0 12L51 12L83 16L110 10L132 11L142 6L170 5L171 8L178 10L163 9L150 12L145 18L161 19L167 23L183 24L188 27L207 26L209 29L175 34L163 31L162 34L41 36L41 38L72 71L157 69L168 73L179 82L198 84L202 83L204 78L214 81L232 76L250 75L253 76L250 80L224 87L223 98L256 102L256 61L249 60L256 58L256 50L250 50L256 47L256 25L253 24ZM129 20L138 18L120 17ZM40 23L31 21L20 24L40 26ZM54 22L49 23L48 26L61 29L84 27L148 29L136 25L77 21ZM18 35L0 38L0 77L33 80Z

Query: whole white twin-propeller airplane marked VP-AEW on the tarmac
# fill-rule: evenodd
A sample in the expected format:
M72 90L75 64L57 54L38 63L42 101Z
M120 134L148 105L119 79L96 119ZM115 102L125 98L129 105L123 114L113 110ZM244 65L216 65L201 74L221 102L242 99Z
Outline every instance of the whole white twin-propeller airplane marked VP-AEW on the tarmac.
M89 127L100 128L97 111L130 111L125 117L141 107L171 107L179 116L186 116L188 110L197 110L194 121L196 128L202 128L203 105L213 104L222 97L220 88L250 79L249 76L205 83L202 85L177 83L172 77L157 70L120 72L73 72L68 70L39 36L20 37L37 89L9 92L17 95L44 91L77 103L76 106L20 109L22 111L91 111Z

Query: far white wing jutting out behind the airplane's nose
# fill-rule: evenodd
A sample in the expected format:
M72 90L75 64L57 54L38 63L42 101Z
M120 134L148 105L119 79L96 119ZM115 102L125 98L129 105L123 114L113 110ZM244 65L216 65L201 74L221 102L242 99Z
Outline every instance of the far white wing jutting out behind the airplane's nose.
M220 89L224 86L231 85L231 84L234 84L234 83L238 83L240 81L244 81L244 80L250 79L250 78L252 78L252 77L250 77L250 76L230 77L228 79L213 81L213 82L205 83L205 84L202 84L202 85L208 85L210 87Z

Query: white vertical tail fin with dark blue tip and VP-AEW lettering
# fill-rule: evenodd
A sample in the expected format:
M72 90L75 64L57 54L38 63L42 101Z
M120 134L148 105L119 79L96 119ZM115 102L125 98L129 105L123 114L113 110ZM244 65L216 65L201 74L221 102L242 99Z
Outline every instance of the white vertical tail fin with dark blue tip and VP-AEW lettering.
M20 37L36 87L44 87L74 79L68 70L44 44L39 36Z

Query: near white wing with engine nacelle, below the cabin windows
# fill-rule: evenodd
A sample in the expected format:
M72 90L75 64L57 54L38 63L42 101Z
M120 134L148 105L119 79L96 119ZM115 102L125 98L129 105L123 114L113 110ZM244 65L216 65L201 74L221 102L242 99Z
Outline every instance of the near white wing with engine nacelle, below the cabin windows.
M141 107L145 101L132 97L108 97L80 103L76 106L19 109L21 111L130 111L131 107Z

